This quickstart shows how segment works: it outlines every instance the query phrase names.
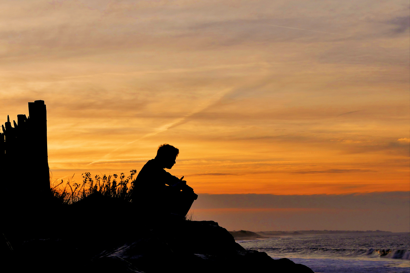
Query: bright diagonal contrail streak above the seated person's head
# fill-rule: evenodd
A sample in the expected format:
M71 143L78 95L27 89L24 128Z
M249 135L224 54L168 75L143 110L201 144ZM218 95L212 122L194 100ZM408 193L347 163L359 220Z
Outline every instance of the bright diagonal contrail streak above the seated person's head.
M160 127L158 127L158 128L155 128L152 133L147 133L146 135L142 136L141 138L138 138L138 139L136 139L136 140L133 140L133 141L131 141L131 142L128 142L128 143L126 143L126 144L124 144L124 145L121 145L120 147L118 147L118 148L116 148L116 149L110 151L109 153L107 153L107 154L106 154L105 156L103 156L102 158L100 158L100 159L98 159L98 160L96 160L96 161L93 161L93 162L91 162L91 163L88 164L88 165L91 165L91 164L93 164L93 163L96 163L96 162L98 162L98 161L100 161L100 160L106 158L107 156L109 156L110 154L114 153L114 152L117 151L118 149L121 149L121 148L124 147L124 146L130 145L130 144L132 144L132 143L134 143L134 142L136 142L136 141L138 141L138 140L141 140L141 139L143 139L143 138L147 138L147 137L156 135L156 134L158 134L158 133L164 132L164 131L170 129L171 127L175 127L175 126L178 126L178 125L184 123L184 121L185 121L188 117L191 117L192 115L194 115L194 114L196 114L196 113L199 113L200 111L204 110L205 108L207 108L208 106L210 106L210 105L213 104L214 102L216 102L216 101L218 101L219 99L221 99L221 97L223 97L226 93L228 93L228 92L231 91L231 90L232 90L232 88L228 88L228 89L222 90L222 91L220 91L220 92L218 92L218 93L212 95L212 97L210 97L210 99L208 99L208 101L207 101L206 103L199 104L198 107L196 108L196 110L191 111L191 112L188 113L187 115L185 115L185 116L183 116L183 117L180 117L180 118L174 120L174 121L171 122L171 123L164 124L164 125L162 125L162 126L160 126Z

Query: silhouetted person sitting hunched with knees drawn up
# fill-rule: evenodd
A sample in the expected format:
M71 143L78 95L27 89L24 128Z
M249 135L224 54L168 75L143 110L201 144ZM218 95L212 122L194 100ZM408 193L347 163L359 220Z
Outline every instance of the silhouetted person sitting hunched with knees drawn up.
M132 203L138 206L142 217L160 219L164 214L182 219L187 215L198 195L187 181L171 175L179 150L169 144L160 145L157 156L149 160L134 182Z

